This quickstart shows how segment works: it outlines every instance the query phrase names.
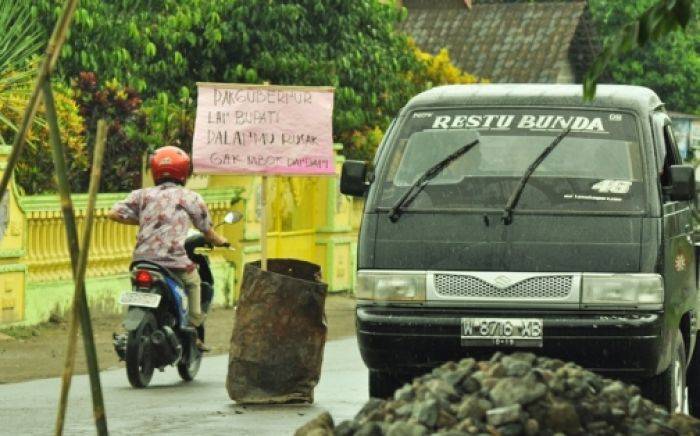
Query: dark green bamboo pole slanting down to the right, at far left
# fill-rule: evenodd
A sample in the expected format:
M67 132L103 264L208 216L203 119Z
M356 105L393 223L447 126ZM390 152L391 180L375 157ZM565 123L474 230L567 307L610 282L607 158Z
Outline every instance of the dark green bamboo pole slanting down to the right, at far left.
M56 117L56 106L54 104L51 84L48 81L44 81L44 83L42 84L42 90L44 93L44 102L46 104L46 118L49 122L49 137L51 140L51 149L53 152L56 181L58 184L58 191L61 197L61 210L63 212L63 222L65 223L66 227L68 249L70 251L71 265L73 266L73 280L75 281L75 295L73 298L73 305L75 310L78 312L76 318L80 321L80 327L83 333L83 345L85 346L85 357L87 358L88 374L90 377L90 388L92 390L92 410L95 418L95 426L97 428L97 433L100 436L102 436L108 434L107 419L105 417L104 401L102 399L102 387L100 385L100 370L97 363L97 353L95 351L92 324L90 321L90 311L87 305L87 298L85 295L85 282L80 277L80 259L87 260L87 250L85 250L85 252L83 253L83 251L79 249L78 245L78 232L77 226L75 225L73 201L70 197L70 187L68 185L68 171L66 170L65 150L59 134L58 119ZM93 176L95 176L94 170L95 168L93 168ZM97 175L99 176L100 172L98 172ZM90 183L91 190L97 189L93 186L93 177L90 178ZM89 228L90 226L86 227ZM89 240L85 240L84 243L89 244ZM83 267L83 276L84 274L85 272ZM75 321L75 319L73 319L73 321ZM70 340L71 339L69 338L69 341ZM73 352L75 352L75 347L73 347ZM68 359L70 357L67 356L66 358Z

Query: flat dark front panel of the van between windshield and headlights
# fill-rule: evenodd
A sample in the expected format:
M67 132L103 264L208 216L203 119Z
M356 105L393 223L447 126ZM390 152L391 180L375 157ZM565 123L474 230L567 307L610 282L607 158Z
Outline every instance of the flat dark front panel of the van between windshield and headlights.
M639 272L643 218L499 213L370 214L371 265L428 271ZM368 247L369 248L369 247Z

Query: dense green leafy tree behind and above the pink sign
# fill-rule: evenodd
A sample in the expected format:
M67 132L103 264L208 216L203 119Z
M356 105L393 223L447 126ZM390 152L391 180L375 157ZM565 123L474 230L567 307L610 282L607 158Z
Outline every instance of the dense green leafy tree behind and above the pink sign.
M34 4L48 32L61 1ZM99 71L147 100L195 95L197 81L335 86L338 139L385 128L423 89L407 80L425 66L395 31L403 13L377 0L83 0L59 67Z

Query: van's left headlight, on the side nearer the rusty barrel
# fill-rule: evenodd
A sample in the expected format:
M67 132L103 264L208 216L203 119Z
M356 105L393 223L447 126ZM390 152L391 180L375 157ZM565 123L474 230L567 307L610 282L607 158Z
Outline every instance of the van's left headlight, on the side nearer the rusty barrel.
M360 300L425 301L424 272L358 271L355 292Z

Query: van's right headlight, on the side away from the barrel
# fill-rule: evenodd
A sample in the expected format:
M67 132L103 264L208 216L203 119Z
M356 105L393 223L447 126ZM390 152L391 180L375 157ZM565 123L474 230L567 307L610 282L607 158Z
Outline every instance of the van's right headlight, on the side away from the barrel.
M581 303L583 307L661 309L664 282L658 274L584 274Z

